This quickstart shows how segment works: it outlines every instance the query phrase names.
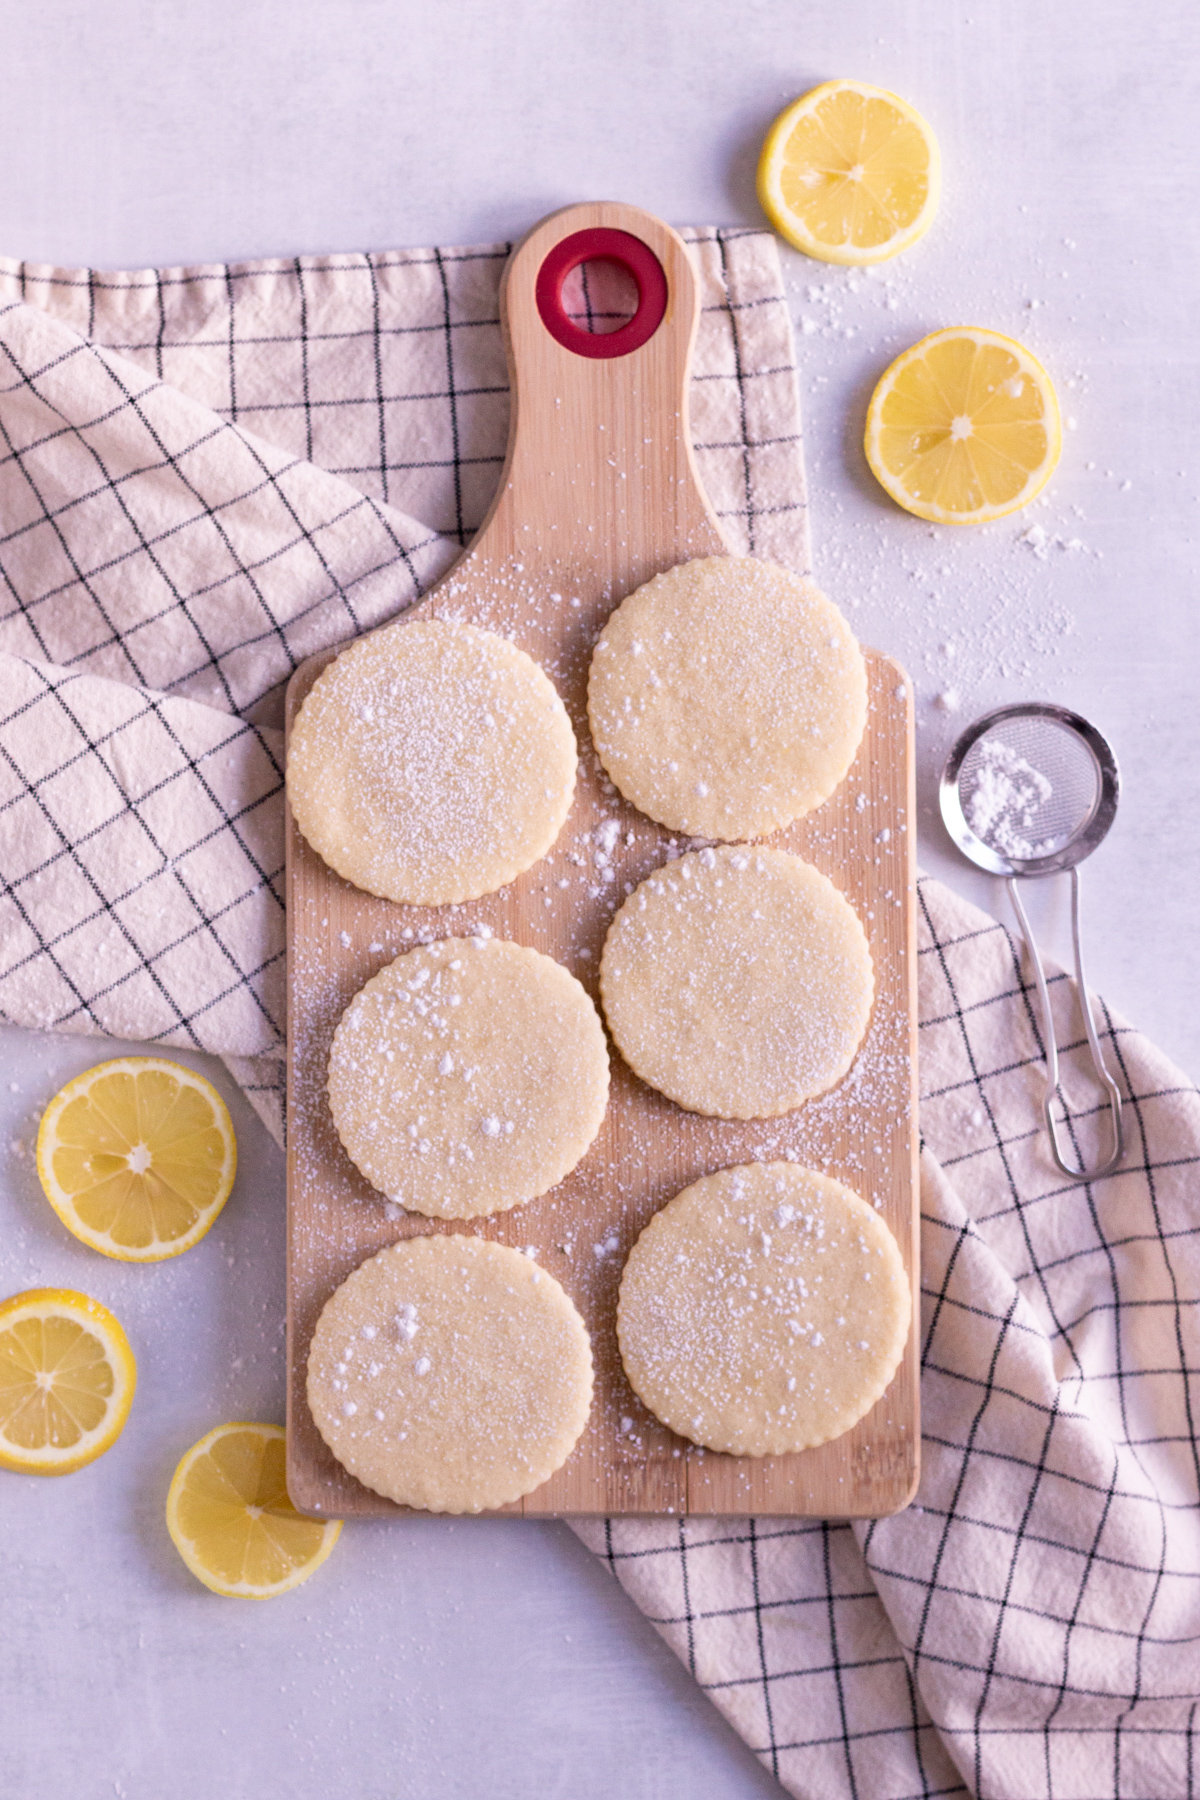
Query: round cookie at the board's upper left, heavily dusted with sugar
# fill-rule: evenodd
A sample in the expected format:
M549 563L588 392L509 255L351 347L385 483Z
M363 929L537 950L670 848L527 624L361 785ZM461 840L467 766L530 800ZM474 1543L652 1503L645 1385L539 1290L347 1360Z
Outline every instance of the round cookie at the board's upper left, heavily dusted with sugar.
M362 637L317 679L288 745L295 823L331 869L410 905L495 893L558 837L576 788L567 707L475 625Z

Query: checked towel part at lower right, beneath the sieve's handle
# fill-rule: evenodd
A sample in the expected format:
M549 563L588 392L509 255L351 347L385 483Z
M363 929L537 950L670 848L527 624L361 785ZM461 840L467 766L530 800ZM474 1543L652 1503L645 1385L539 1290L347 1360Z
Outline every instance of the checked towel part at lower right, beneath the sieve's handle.
M1051 990L1094 1150L1105 1102L1072 985ZM1065 1183L1033 995L1011 934L923 882L916 1505L579 1528L813 1800L1159 1800L1200 1780L1200 1096L1105 1010L1126 1156Z

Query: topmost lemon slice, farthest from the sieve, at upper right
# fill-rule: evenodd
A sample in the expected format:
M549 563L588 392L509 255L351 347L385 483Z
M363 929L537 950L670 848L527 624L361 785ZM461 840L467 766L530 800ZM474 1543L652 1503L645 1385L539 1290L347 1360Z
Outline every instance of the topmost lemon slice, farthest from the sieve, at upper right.
M757 189L766 218L797 250L822 263L883 263L934 221L937 139L887 88L826 81L775 119Z

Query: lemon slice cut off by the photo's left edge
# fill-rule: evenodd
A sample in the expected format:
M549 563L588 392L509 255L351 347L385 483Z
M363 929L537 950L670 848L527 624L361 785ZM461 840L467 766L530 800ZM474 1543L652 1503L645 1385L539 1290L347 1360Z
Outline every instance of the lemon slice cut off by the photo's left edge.
M0 1305L0 1467L70 1474L117 1442L137 1363L119 1321L68 1287Z

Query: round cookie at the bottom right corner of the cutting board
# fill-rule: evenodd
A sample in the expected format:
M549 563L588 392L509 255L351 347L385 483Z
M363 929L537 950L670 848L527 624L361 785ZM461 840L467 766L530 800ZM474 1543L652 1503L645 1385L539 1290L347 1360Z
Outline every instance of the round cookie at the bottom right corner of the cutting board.
M784 1456L871 1411L910 1316L896 1238L865 1201L795 1163L747 1163L649 1220L621 1276L617 1339L671 1431Z

